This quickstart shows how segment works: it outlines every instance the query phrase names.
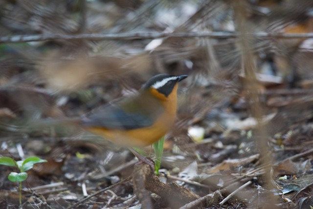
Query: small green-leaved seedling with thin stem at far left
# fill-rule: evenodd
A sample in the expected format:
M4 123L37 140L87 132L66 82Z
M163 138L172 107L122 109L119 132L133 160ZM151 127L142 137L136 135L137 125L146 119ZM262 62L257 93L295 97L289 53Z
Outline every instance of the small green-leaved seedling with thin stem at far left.
M20 169L20 173L11 172L8 176L8 179L11 182L19 182L19 194L20 194L20 205L22 204L22 182L25 181L28 177L25 171L33 168L35 163L45 163L46 160L40 159L38 157L29 157L23 161L15 161L9 157L0 157L0 164L7 166L14 166Z

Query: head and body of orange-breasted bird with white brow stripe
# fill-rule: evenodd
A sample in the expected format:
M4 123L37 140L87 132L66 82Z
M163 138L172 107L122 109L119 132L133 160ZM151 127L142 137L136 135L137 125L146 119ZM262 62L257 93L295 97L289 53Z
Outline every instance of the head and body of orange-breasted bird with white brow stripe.
M136 94L108 103L78 121L83 129L124 147L144 147L173 126L178 83L187 75L158 74Z

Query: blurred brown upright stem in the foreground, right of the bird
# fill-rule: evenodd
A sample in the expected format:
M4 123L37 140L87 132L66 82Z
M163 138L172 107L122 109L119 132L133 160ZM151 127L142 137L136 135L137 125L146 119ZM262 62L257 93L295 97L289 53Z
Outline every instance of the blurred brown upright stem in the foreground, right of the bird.
M258 149L261 152L261 160L263 165L273 164L271 161L271 153L268 149L268 129L262 124L262 117L265 115L264 107L261 104L260 90L257 85L257 78L255 72L257 71L256 60L251 52L250 43L253 43L253 39L256 37L249 37L249 27L247 24L248 0L238 0L233 2L234 16L236 30L239 31L242 36L238 39L238 46L241 52L242 68L247 78L244 83L245 89L249 92L246 94L246 101L251 111L252 116L258 120L257 129L255 130L253 139L255 144L258 145ZM266 187L268 190L275 188L275 185L271 184L271 168L265 167L264 178L266 180ZM276 199L272 194L268 192L267 200L269 205L276 205ZM221 204L221 203L220 203Z

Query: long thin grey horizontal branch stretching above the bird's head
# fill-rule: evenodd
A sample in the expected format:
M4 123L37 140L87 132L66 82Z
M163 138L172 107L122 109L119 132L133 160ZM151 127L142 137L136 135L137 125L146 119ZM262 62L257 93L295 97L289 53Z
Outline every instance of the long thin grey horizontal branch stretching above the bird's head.
M88 39L92 41L100 40L134 40L134 39L158 39L169 37L180 38L212 38L212 39L231 39L242 36L241 33L233 32L179 32L179 33L163 33L163 32L134 32L134 33L106 33L106 34L49 34L49 35L16 35L0 37L0 44L3 43L20 43L47 40L76 40ZM245 36L254 38L313 38L313 33L246 33Z

